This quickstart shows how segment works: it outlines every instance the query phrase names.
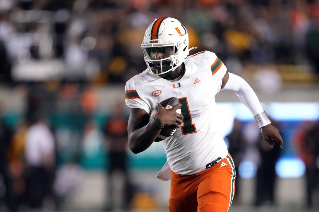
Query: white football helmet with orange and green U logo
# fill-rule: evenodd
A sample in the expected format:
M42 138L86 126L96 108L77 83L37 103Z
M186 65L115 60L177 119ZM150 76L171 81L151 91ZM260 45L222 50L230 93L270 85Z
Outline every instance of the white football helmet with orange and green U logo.
M145 31L142 42L144 60L151 74L167 76L184 62L189 54L189 39L185 27L175 18L155 19ZM150 48L172 46L173 53L168 58L153 60ZM194 49L197 47L193 47ZM169 63L168 63L169 62Z

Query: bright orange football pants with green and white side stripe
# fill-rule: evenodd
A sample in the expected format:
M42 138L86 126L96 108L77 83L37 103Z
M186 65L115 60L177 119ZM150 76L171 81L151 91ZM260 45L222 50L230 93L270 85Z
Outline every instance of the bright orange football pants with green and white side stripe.
M226 212L230 208L236 178L230 154L197 174L171 173L170 212Z

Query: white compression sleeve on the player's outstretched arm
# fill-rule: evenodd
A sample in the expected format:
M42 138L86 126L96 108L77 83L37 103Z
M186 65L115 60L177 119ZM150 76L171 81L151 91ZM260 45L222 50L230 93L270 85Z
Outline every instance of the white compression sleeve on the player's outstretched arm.
M221 90L228 90L233 91L240 101L246 105L246 107L250 110L250 112L255 117L256 121L258 122L258 118L260 118L260 114L262 116L267 116L266 114L263 114L263 107L261 106L258 97L256 93L253 91L253 89L250 87L250 85L240 76L237 76L232 73L229 74L229 79ZM263 117L261 117L263 118ZM268 117L267 117L268 119ZM262 123L261 125L258 122L259 128L270 124L270 121L266 121Z

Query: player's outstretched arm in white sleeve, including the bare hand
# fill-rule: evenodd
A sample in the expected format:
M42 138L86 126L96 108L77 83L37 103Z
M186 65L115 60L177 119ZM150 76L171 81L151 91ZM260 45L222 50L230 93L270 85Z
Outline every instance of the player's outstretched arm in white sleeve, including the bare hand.
M246 105L261 129L263 138L270 144L271 148L275 143L278 143L283 148L284 143L279 130L271 125L271 121L263 110L256 93L243 78L226 72L222 79L221 90L233 91L241 102Z

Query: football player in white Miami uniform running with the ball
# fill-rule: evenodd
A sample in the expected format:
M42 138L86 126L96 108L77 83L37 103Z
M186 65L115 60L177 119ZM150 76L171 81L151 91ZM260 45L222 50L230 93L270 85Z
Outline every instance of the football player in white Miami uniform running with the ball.
M147 69L125 85L130 108L128 142L133 153L146 150L164 126L175 133L162 141L167 162L157 177L171 180L170 212L227 211L234 197L234 161L219 133L215 95L233 91L255 117L263 138L272 148L283 147L255 92L241 77L228 73L210 51L189 55L186 28L175 18L154 20L142 42ZM179 104L165 109L158 102L169 97ZM149 115L158 105L155 119ZM182 109L182 114L176 112Z

